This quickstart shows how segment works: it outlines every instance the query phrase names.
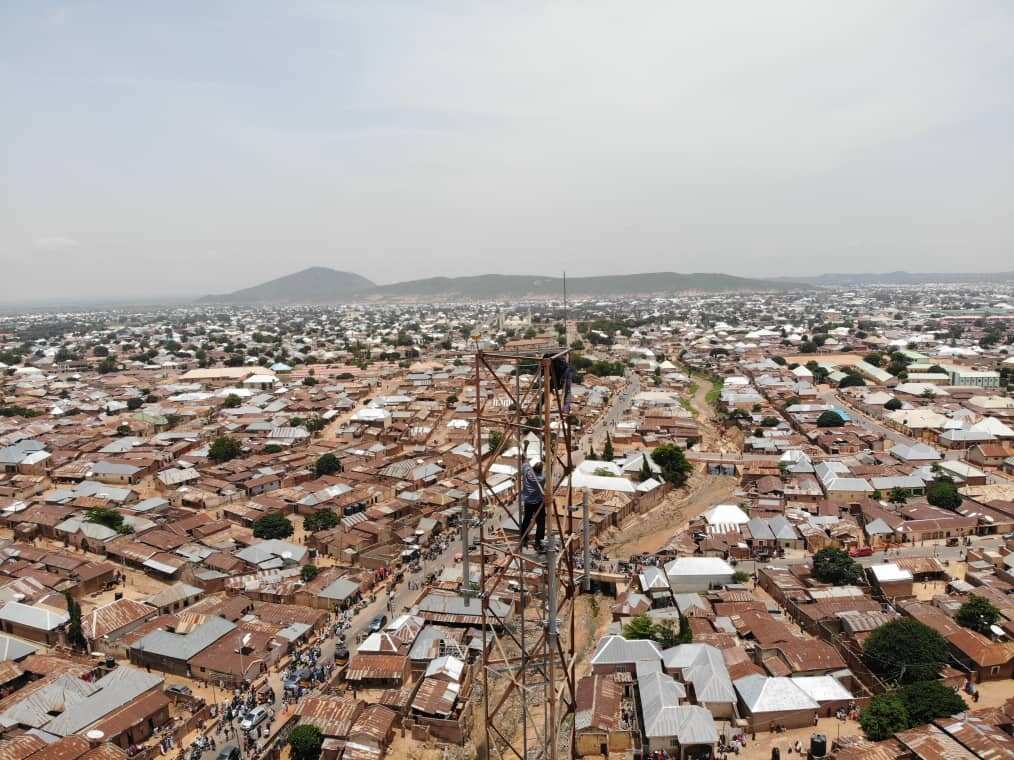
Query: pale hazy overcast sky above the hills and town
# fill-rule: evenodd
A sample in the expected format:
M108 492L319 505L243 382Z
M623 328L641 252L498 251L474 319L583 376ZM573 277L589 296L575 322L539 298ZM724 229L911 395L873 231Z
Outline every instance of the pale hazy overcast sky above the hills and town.
M0 302L1014 269L1014 5L0 5Z

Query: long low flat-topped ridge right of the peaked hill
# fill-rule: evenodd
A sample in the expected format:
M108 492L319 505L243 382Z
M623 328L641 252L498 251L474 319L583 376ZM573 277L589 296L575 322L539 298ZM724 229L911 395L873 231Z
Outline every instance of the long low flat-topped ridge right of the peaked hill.
M681 275L654 272L639 275L567 278L572 296L622 296L674 293L681 291L791 290L795 283L751 280L720 274ZM563 278L530 275L477 275L475 277L433 277L393 285L381 285L360 294L364 298L448 298L481 299L497 297L562 296Z

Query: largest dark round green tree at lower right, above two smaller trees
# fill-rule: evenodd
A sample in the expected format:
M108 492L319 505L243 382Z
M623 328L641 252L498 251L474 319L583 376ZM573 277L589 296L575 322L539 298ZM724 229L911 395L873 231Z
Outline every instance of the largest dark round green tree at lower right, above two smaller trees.
M863 659L887 681L932 681L949 658L949 644L933 628L910 617L884 623L870 633Z

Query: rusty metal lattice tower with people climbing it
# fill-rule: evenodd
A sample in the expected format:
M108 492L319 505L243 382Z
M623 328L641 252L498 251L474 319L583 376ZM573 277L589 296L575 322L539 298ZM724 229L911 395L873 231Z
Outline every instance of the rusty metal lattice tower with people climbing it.
M553 374L554 360L559 367L559 360L567 362L568 355L568 350L558 348L546 354L479 351L475 357L479 479L475 510L481 554L477 588L468 571L470 521L463 520L462 588L482 604L483 760L575 756L575 557L581 541L580 515L575 516L575 510L580 506L575 505L569 477L573 470L569 405ZM513 366L512 375L497 375L495 370L504 365ZM483 436L494 432L499 441L484 457ZM546 478L541 552L522 551L522 537L504 530L519 532L522 457L525 440L531 437L537 441ZM511 447L517 450L517 473L513 489L508 490L503 480L491 483L490 468ZM491 510L492 527L486 519ZM529 532L538 519L536 515L531 521ZM515 596L517 605L512 604Z

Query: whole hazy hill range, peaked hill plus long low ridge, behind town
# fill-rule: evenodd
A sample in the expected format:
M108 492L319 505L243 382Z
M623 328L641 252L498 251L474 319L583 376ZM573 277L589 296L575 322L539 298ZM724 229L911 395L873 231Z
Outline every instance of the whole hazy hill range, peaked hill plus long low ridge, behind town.
M676 293L683 291L793 290L795 282L750 280L732 275L656 272L610 277L567 279L573 296L623 296ZM562 296L563 278L528 275L478 275L475 277L431 277L393 285L375 285L364 277L312 267L294 275L272 280L234 293L205 296L201 303L337 303L344 301L395 299L470 300Z

